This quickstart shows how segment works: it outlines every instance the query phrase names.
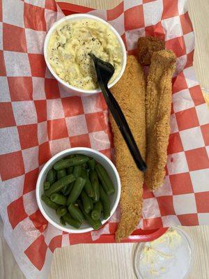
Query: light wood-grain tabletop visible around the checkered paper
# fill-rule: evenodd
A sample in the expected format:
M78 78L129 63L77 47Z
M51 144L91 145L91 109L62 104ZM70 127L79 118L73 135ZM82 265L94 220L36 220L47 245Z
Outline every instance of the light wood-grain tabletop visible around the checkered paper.
M131 0L130 0L131 1ZM120 0L70 0L93 8L113 8ZM209 93L209 1L188 0L196 33L194 66L201 87ZM209 226L183 227L194 243L194 267L189 279L209 278ZM57 249L49 279L134 279L133 257L137 244L80 244ZM24 279L3 239L0 220L0 278ZM38 279L38 278L34 278Z

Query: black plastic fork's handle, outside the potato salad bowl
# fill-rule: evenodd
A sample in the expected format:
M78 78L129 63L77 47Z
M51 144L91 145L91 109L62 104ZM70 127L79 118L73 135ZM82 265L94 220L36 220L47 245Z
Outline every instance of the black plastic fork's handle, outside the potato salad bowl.
M132 132L127 124L121 107L118 105L118 102L116 101L112 93L109 91L106 84L104 85L101 82L100 88L102 90L104 99L106 100L107 106L109 107L109 110L112 116L114 117L116 124L119 130L121 131L121 134L123 135L123 138L130 150L130 153L132 154L132 157L134 158L134 162L136 163L137 167L141 170L141 172L145 172L147 169L146 163L141 157L141 153L139 152L139 149L134 140Z

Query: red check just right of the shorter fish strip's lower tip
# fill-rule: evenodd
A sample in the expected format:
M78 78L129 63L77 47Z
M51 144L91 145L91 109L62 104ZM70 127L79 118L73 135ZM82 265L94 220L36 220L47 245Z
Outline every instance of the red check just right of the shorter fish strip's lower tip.
M194 193L189 172L183 172L182 174L172 174L169 176L169 179L171 182L173 195Z

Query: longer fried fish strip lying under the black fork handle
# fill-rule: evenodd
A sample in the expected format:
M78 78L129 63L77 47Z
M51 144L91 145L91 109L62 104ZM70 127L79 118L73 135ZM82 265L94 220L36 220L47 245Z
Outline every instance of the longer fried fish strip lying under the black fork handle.
M111 92L125 114L141 156L145 158L146 120L145 120L145 81L144 73L134 56L127 57L127 66L121 80L111 88ZM121 177L121 220L116 231L116 241L129 236L139 223L142 208L144 174L134 163L120 130L112 116L111 127L114 132L116 167Z

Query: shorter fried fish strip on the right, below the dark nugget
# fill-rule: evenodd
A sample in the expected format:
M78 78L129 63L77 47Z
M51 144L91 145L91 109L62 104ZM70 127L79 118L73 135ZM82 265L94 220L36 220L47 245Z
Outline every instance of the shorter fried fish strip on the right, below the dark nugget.
M162 186L170 134L171 78L176 56L170 50L154 52L146 87L146 164L145 183L150 190Z

